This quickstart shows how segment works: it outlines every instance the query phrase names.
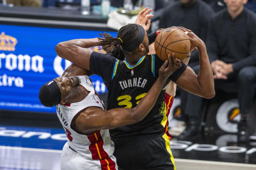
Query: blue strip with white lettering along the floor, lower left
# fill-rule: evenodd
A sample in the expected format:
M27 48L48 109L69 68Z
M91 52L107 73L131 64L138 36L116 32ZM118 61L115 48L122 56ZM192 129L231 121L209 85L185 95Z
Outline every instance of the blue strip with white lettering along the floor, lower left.
M64 129L0 126L0 146L62 150L66 142Z

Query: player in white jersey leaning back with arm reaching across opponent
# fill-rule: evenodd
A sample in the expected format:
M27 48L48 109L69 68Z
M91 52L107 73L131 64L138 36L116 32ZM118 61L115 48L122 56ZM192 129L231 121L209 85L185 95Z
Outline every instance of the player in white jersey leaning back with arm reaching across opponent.
M75 65L69 66L62 77L44 84L39 99L46 107L56 105L57 116L67 135L61 169L118 169L108 129L141 121L154 106L167 78L179 67L181 61L174 53L172 57L169 55L169 62L166 60L159 69L156 82L134 108L106 111L89 78L91 72Z

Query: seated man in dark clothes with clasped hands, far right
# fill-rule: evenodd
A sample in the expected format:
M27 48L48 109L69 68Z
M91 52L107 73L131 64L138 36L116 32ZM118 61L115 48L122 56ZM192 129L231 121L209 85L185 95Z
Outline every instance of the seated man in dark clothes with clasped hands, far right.
M254 99L256 83L256 16L244 8L247 0L224 2L227 8L211 18L206 46L215 89L236 91L238 94L241 114L238 142L246 142L249 139L246 118ZM200 112L196 110L201 108L202 98L189 94L187 101L194 120L200 124Z

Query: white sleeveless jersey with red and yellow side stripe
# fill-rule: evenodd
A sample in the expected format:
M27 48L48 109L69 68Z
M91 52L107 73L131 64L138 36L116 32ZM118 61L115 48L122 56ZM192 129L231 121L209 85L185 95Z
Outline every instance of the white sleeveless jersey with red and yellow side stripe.
M81 79L80 85L90 93L77 103L68 105L57 105L58 118L66 132L67 143L71 150L88 160L102 160L113 155L114 143L110 139L109 130L98 130L93 134L80 134L70 128L72 120L89 107L100 107L105 110L101 98L95 92L91 79L88 76L78 76ZM111 161L110 159L107 159ZM108 163L110 165L110 162ZM116 164L116 163L115 163Z

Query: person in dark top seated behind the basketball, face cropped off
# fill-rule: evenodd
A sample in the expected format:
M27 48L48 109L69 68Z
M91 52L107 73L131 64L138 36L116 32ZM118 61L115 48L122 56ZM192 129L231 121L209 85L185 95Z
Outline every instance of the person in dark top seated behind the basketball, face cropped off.
M213 14L212 8L202 0L178 0L164 8L159 26L167 28L177 25L188 28L206 42L208 22ZM188 66L194 70L195 74L199 73L199 54L196 50L191 52ZM188 119L188 122L186 130L178 137L178 140L186 140L191 135L199 133L199 124L192 119L191 108L187 108L187 95L187 91L180 89L181 114ZM195 112L200 111L200 108L196 109Z

